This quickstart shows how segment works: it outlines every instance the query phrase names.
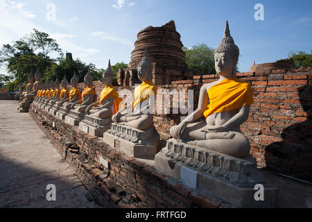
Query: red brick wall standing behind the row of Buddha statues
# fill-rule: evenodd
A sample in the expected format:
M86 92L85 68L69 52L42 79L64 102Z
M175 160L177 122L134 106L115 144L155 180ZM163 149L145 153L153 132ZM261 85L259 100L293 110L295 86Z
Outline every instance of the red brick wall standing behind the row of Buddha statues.
M252 85L254 104L250 117L241 130L250 139L251 154L257 158L259 167L268 167L281 173L312 181L312 71L311 67L300 69L275 69L270 72L239 73L237 77ZM194 109L198 105L200 87L218 78L216 75L194 76L193 80L173 81L171 85L157 86L156 104L160 96L177 90L193 89ZM83 88L83 84L80 83ZM103 89L101 81L94 82L98 98ZM131 99L134 87L116 87L120 94L128 92ZM128 91L125 91L128 89ZM187 91L185 91L187 92ZM187 103L187 93L185 100ZM170 137L171 126L180 123L181 116L173 114L180 107L171 95L170 112L157 113L155 127L163 142ZM162 101L164 111L164 99ZM180 110L179 110L180 112Z

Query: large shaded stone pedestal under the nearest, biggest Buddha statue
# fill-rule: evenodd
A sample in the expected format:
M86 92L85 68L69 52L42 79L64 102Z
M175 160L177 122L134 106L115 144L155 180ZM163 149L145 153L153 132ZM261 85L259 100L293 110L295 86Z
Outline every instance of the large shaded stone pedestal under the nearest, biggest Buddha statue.
M207 191L235 207L277 207L277 189L248 160L168 139L155 155L155 168L193 189ZM264 200L255 200L255 185L263 185Z

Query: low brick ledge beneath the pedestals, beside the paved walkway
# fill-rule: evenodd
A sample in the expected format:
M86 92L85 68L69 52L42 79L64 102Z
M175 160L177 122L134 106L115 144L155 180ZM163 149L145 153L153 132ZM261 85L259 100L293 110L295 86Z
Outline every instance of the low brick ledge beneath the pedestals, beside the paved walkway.
M32 105L29 110L58 152L75 169L78 178L104 207L232 207L232 205L184 187L173 178L128 157L76 126L56 119ZM53 124L54 123L54 124ZM55 126L55 127L53 127ZM100 157L109 168L100 164Z

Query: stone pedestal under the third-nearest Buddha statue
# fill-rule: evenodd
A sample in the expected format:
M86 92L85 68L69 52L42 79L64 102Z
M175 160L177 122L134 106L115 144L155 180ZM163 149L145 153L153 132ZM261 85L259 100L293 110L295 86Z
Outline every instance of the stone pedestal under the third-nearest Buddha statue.
M110 123L112 123L112 118L99 119L86 115L85 119L79 123L79 129L89 135L103 137L103 133L110 129Z

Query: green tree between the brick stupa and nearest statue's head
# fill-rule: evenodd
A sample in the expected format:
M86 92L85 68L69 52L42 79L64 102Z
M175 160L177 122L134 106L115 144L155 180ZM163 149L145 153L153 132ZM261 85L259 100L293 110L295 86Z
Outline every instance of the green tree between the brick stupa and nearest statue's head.
M187 49L182 48L185 52L185 62L190 69L195 71L196 75L216 74L214 69L214 49L206 44L197 44Z

